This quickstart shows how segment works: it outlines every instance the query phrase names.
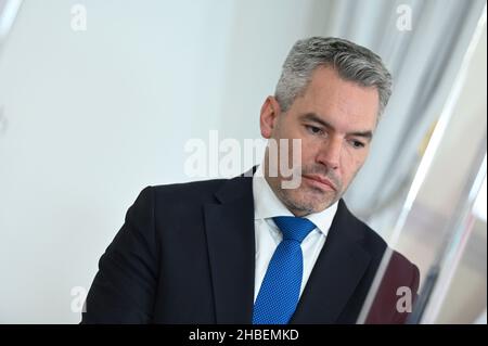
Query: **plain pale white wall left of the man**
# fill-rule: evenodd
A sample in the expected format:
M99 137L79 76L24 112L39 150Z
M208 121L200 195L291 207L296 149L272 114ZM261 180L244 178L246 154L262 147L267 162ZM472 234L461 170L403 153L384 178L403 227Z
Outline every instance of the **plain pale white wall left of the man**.
M87 31L70 9L87 8ZM314 1L26 0L0 52L0 322L72 323L73 286L184 142L258 138Z

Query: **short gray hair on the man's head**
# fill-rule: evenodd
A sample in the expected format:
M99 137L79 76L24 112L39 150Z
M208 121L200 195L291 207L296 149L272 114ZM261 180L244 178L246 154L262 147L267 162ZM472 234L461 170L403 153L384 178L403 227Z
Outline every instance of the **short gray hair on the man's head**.
M369 49L334 37L298 40L283 64L274 97L282 112L303 95L319 66L331 66L338 75L362 87L375 87L380 97L378 116L391 94L391 75L382 59Z

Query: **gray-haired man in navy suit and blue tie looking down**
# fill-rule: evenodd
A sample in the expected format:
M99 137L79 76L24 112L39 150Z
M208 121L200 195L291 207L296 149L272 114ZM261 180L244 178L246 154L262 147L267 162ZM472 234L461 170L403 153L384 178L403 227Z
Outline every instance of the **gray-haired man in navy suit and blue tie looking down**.
M341 198L390 85L365 48L298 41L260 113L261 134L279 151L280 140L301 141L298 185L285 187L268 146L252 177L144 189L100 259L82 322L356 323L370 302L365 322L403 323L410 310L399 309L398 290L414 297L419 270ZM385 254L378 294L367 299Z

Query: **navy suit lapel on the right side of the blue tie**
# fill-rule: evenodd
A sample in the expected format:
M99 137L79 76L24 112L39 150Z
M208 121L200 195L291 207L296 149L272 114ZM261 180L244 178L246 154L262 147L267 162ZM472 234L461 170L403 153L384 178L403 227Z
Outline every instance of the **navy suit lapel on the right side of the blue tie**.
M292 323L334 323L355 292L371 257L358 242L360 232L351 219L341 200Z

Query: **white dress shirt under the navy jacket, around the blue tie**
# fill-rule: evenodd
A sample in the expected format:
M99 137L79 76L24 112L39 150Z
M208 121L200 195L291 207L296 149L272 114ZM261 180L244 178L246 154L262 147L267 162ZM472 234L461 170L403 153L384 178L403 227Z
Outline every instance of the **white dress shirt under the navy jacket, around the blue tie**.
M259 165L253 176L254 227L256 241L254 302L256 302L269 261L283 239L280 229L274 225L272 218L275 216L294 216L271 190L268 181L264 178L261 167L262 165ZM319 257L320 251L325 243L325 238L336 210L337 203L334 203L323 212L310 214L305 217L312 221L317 227L301 242L304 277L301 280L300 296L317 258Z

